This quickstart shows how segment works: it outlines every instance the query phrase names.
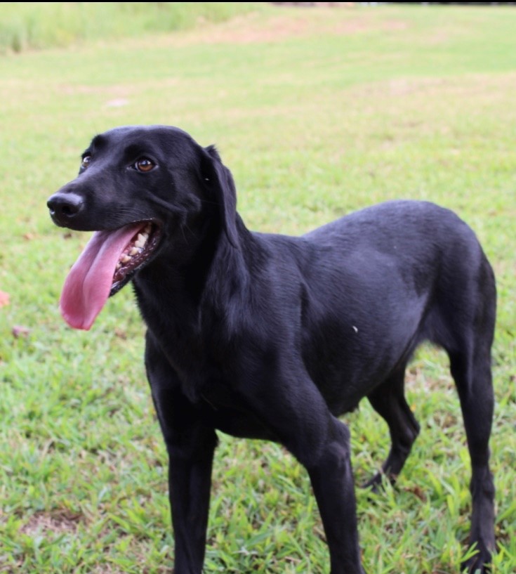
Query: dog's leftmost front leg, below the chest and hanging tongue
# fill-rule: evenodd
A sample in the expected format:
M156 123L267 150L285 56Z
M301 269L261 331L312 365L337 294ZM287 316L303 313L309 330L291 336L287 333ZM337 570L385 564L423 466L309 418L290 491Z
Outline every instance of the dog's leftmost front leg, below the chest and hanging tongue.
M168 452L174 573L201 574L217 436L180 391L176 374L149 340L147 337L147 377Z

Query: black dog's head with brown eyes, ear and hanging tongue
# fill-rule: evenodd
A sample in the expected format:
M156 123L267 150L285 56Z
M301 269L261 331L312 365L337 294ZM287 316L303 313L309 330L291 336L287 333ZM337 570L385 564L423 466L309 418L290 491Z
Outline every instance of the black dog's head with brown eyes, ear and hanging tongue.
M67 322L89 329L108 296L166 249L192 248L208 224L236 247L236 203L216 148L183 130L123 126L95 136L79 175L47 202L56 225L95 231L65 282Z

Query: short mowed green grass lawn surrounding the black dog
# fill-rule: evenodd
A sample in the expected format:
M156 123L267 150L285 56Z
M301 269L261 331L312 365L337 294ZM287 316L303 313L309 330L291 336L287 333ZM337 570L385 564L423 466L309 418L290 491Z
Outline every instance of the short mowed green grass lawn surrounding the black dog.
M494 266L492 469L498 554L516 571L516 8L279 8L190 32L0 58L0 572L170 572L166 452L130 287L90 332L58 299L88 239L46 199L91 136L172 124L216 143L252 229L303 233L398 197L450 207ZM345 352L345 349L343 349ZM369 574L451 574L467 547L470 462L444 353L411 364L421 435L396 488L357 490ZM357 483L388 447L364 401L343 417ZM220 435L206 573L329 572L303 467Z

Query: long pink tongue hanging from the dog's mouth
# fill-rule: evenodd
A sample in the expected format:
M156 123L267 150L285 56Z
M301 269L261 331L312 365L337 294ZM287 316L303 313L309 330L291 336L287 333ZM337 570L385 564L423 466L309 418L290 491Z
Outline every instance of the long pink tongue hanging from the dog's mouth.
M95 231L74 263L62 288L60 311L75 329L89 330L102 311L124 248L145 223L132 223L115 231Z

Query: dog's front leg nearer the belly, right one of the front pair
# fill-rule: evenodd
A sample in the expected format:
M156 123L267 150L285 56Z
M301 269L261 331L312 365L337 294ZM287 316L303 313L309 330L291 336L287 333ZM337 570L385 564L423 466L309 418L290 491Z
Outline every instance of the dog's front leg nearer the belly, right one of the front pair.
M246 388L251 391L246 400L307 469L326 533L331 574L364 574L348 427L331 415L319 390L302 370L297 374L269 371L267 375L261 386ZM260 373L253 377L260 377ZM260 393L253 389L260 389Z

